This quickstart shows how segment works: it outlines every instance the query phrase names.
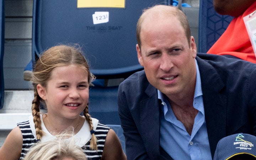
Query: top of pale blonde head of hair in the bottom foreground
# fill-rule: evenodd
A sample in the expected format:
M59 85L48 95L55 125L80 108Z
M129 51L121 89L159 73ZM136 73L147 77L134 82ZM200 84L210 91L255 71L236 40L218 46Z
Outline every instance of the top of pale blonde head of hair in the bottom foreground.
M59 134L53 140L34 144L24 160L56 160L64 158L87 160L82 148L76 144L74 134Z

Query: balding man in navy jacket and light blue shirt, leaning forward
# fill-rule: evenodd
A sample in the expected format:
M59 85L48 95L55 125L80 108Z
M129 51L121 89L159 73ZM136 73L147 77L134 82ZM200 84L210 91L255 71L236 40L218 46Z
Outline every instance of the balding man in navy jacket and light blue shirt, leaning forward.
M197 54L186 16L144 10L136 45L143 71L119 85L127 159L212 159L218 141L256 135L256 65Z

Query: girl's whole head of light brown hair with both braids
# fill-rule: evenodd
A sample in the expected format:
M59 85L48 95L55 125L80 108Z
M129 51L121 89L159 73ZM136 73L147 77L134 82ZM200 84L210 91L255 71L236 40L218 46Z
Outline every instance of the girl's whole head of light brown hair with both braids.
M51 73L54 68L68 65L79 65L84 68L88 73L88 82L91 83L95 76L90 73L89 65L82 53L79 45L58 45L53 46L40 55L35 66L33 67L32 84L34 87L34 99L32 101L32 115L35 123L37 139L41 139L43 131L41 127L40 118L40 102L44 102L38 95L37 85L41 84L43 87L47 87L47 83L51 77ZM93 125L91 116L88 111L88 103L83 112L86 121L89 123L90 131L93 131ZM94 132L91 132L92 138L90 148L97 150L97 139Z

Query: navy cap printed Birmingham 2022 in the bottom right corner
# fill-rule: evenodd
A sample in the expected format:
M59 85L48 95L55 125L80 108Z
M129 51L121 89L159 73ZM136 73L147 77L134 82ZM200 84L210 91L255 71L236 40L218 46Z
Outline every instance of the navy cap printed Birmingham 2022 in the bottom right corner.
M231 160L236 157L256 159L256 137L238 133L219 140L213 160Z

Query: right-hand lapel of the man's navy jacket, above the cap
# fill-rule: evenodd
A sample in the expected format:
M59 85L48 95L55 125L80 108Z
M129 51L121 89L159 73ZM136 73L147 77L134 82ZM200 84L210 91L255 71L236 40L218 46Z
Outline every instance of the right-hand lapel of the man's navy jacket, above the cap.
M218 141L226 136L226 96L219 92L224 83L216 69L208 62L197 57L201 76L204 112L210 150L214 155Z

